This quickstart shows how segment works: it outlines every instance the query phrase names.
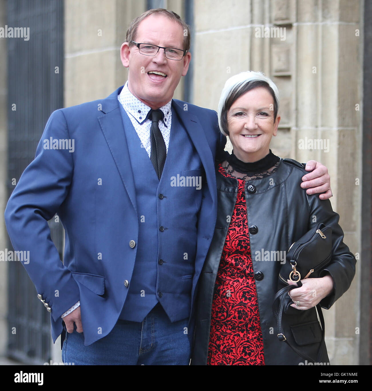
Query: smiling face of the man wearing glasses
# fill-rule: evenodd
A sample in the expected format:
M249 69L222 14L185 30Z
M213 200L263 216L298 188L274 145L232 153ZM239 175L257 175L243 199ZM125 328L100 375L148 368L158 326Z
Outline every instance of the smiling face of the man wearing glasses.
M150 15L139 23L134 41L183 50L183 30L181 25L163 15ZM168 103L174 94L181 76L187 74L191 54L181 60L165 57L164 49L156 56L139 53L138 47L124 42L120 55L123 65L129 67L128 88L141 102L153 109ZM154 74L161 72L166 76Z

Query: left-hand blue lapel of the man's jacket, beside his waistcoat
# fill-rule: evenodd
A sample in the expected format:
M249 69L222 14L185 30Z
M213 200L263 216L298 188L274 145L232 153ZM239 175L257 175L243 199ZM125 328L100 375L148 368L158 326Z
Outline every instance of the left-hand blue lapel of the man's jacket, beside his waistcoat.
M102 113L104 114L98 117L98 122L122 178L125 190L127 190L134 210L138 213L132 165L120 114L120 102L118 101L118 93L122 88L118 88L102 101Z

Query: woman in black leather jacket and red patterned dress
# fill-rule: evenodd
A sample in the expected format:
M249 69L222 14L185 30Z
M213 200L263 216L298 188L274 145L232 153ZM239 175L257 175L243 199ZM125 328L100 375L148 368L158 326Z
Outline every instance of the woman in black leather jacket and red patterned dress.
M226 152L216 164L218 215L199 280L191 364L304 362L279 341L272 305L286 251L320 222L333 229L331 263L319 278L304 279L289 292L296 309L293 324L317 321L315 306L330 308L354 277L356 260L342 242L339 215L329 200L299 187L303 165L269 149L277 135L278 108L277 87L259 72L231 77L222 91L218 121L233 154ZM263 256L277 251L277 259ZM305 332L306 343L319 342ZM328 362L324 341L320 344L321 362Z

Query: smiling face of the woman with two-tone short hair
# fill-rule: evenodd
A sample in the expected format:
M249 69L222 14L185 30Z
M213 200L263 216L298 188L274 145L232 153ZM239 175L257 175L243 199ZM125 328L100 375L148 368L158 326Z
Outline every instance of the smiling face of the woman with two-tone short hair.
M245 162L264 158L276 136L280 117L274 121L274 99L265 87L256 87L235 100L227 111L227 126L236 157Z

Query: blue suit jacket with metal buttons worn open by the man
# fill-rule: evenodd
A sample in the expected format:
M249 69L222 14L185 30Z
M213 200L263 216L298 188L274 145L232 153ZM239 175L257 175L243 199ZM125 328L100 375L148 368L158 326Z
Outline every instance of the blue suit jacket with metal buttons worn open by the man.
M79 300L85 344L107 335L128 292L124 281L131 280L137 249L129 242L137 243L139 218L117 99L121 90L52 113L35 159L5 210L14 249L30 251L29 264L24 266L40 300L50 308L54 342L63 331L61 315ZM218 131L215 111L179 100L172 104L200 155L207 180L198 219L195 298L216 221L214 161L226 139ZM45 140L51 137L74 140L74 151L47 149L53 143ZM63 263L47 223L55 213L65 229Z

